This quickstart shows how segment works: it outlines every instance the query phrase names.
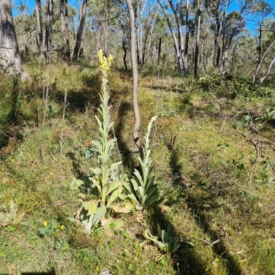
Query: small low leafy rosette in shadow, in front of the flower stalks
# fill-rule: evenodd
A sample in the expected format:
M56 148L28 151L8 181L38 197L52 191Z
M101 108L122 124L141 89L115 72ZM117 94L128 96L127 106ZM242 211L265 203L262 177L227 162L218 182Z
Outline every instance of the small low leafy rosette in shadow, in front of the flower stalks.
M177 250L179 249L179 238L177 236L174 236L174 230L173 225L168 225L167 231L161 230L159 224L157 225L157 236L153 236L148 230L145 230L144 236L146 239L153 241L153 243L159 245L159 248L167 253L175 254ZM161 239L161 241L158 241L158 239Z

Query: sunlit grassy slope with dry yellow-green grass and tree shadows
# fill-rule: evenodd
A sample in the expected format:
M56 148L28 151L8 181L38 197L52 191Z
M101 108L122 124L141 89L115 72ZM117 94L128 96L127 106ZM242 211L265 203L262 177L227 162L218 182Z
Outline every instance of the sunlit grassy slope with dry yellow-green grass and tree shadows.
M157 85L154 76L140 78L141 137L155 115L157 91L159 95L153 162L157 182L168 200L142 223L135 214L118 215L113 218L125 222L123 230L87 236L67 217L73 217L81 205L79 192L70 183L95 164L93 157L85 158L85 152L98 135L94 120L100 87L97 70L91 66L50 69L51 109L44 126L41 113L47 72L41 74L39 67L29 71L34 80L22 88L13 88L8 81L1 83L1 91L5 91L1 118L6 118L1 124L7 133L12 105L6 102L12 102L11 91L21 89L17 109L21 141L10 138L0 151L0 204L13 199L25 216L21 223L0 228L0 274L51 269L56 274L100 274L105 268L111 274L275 273L274 189L273 183L268 184L274 174L274 125L270 121L261 131L261 153L254 179L248 183L255 150L230 124L230 120L242 121L248 110L259 116L274 102L272 89L257 90L258 94L269 93L258 97L241 81L214 78L193 83L188 78L166 77ZM111 72L109 84L116 135L125 152L134 148L131 78ZM245 91L251 100L245 102L237 96L224 103L232 86L238 93ZM65 90L69 107L61 155ZM256 138L252 131L239 131ZM135 155L124 154L126 173L136 163ZM149 243L140 245L144 229L154 232L156 223L163 229L168 223L175 227L181 248L173 258L155 261L159 250Z

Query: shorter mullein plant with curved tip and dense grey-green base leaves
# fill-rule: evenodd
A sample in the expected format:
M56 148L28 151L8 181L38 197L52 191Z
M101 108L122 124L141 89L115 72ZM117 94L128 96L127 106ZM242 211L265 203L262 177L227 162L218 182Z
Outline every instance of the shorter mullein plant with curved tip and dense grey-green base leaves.
M148 124L148 131L145 135L145 144L142 148L142 157L139 157L140 171L136 170L129 182L124 184L126 195L122 195L125 201L131 203L136 210L148 210L154 208L165 201L165 197L157 190L155 177L153 176L153 166L150 150L150 133L153 122L157 116L153 117Z

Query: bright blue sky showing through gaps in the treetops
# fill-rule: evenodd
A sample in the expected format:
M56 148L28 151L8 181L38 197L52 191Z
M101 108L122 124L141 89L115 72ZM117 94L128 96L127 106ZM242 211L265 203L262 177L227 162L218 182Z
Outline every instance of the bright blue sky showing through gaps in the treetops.
M1 1L1 0L0 0ZM41 0L41 2L45 2L46 0ZM100 1L100 0L98 0ZM269 3L275 10L275 0L265 0L267 1L267 3ZM70 5L74 5L76 8L78 8L78 0L68 0ZM82 2L82 1L81 1ZM34 10L34 6L35 6L35 0L12 0L12 4L13 4L13 9L12 9L12 13L14 16L17 16L17 14L19 14L19 10L17 10L15 7L19 6L20 3L23 3L23 5L28 5L28 13L32 13ZM230 5L230 11L232 10L239 10L239 4L238 4L238 0L233 0L233 3ZM250 19L253 19L250 16ZM255 33L255 23L253 23L252 21L248 21L247 22L247 28L250 30L250 32L252 34Z

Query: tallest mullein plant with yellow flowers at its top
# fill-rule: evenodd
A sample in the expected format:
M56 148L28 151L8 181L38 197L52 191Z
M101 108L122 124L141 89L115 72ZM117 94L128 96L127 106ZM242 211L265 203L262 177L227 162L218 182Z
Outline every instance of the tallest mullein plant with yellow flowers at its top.
M98 156L98 167L90 168L93 176L90 178L94 186L98 188L100 197L98 200L83 202L84 211L80 214L80 219L85 227L85 232L93 231L100 223L106 213L107 208L115 209L114 201L120 196L122 191L122 176L119 175L121 162L112 163L111 151L115 146L115 138L109 138L109 132L112 129L110 109L108 105L108 80L107 72L111 67L113 57L103 56L102 50L98 52L102 84L100 89L101 104L98 108L96 121L98 122L99 140L93 140L94 151Z

